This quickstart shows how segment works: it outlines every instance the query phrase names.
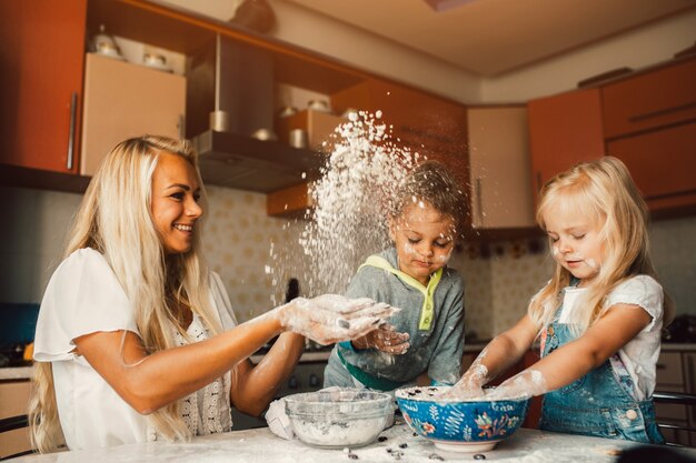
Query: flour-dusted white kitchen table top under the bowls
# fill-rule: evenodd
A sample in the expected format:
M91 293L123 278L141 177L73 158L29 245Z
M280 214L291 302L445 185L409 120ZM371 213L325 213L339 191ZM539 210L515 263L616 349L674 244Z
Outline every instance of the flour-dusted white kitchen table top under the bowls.
M315 449L298 440L285 441L275 436L268 427L233 431L225 434L199 436L188 443L143 443L121 445L111 449L59 452L46 455L30 455L12 460L24 463L91 463L91 462L235 462L235 463L325 463L325 462L427 462L473 461L471 453L451 453L438 450L429 441L414 436L412 432L397 420L397 424L384 431L384 442L375 442L365 447L352 449L357 459L348 456L345 450ZM404 444L406 444L405 447ZM598 437L550 433L520 429L510 439L486 452L486 461L509 463L536 462L614 462L622 451L636 443ZM389 451L390 450L390 451ZM396 456L396 453L400 453ZM678 452L696 460L695 449L679 449ZM438 456L436 456L438 455Z

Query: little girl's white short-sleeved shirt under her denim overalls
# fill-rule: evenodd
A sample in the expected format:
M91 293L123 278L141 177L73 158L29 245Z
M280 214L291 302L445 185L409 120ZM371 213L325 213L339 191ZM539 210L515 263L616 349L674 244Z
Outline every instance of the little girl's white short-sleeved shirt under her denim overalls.
M559 323L568 323L571 320L573 311L579 310L576 309L576 304L578 300L581 301L585 291L585 288L565 289ZM605 300L605 308L616 304L637 305L652 318L650 323L618 351L622 363L633 379L634 399L637 401L650 397L655 391L655 369L663 329L663 286L655 279L636 275L616 286ZM619 365L615 365L617 366Z

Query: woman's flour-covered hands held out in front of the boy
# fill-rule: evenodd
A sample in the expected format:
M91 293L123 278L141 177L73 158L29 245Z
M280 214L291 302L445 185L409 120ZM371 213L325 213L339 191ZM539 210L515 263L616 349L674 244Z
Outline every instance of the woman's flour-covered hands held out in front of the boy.
M331 344L366 335L399 310L367 298L325 294L314 299L297 298L269 313L277 316L286 330L319 344Z

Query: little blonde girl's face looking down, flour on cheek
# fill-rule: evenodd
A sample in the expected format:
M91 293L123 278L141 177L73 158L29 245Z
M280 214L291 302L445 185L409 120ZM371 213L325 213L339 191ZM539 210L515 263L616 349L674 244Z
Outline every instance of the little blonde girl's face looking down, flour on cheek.
M554 259L581 280L580 286L599 273L604 240L597 220L575 208L556 204L547 209L544 224L551 242Z

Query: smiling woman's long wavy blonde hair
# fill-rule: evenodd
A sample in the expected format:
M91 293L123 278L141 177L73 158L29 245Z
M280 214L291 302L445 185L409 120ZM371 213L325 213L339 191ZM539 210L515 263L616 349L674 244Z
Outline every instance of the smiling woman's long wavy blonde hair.
M185 159L201 188L197 155L190 143L143 135L119 143L92 178L69 233L63 258L92 248L106 258L129 300L142 345L153 353L176 345L176 331L186 335L172 312L182 304L198 314L211 334L221 331L209 300L209 273L200 253L201 228L193 230L190 251L167 256L151 217L152 174L161 153ZM62 444L51 364L38 362L29 419L33 445L40 452ZM189 436L173 402L148 415L150 424L168 440Z

